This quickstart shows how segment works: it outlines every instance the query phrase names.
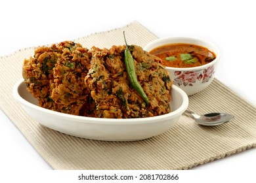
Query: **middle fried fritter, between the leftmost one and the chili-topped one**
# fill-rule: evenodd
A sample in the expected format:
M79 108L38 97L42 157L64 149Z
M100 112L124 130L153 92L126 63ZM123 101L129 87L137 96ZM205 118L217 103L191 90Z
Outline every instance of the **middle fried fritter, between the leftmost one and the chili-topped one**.
M91 54L87 48L72 41L60 42L57 50L62 50L54 67L54 85L52 99L60 112L85 115L89 90L84 80L90 69Z

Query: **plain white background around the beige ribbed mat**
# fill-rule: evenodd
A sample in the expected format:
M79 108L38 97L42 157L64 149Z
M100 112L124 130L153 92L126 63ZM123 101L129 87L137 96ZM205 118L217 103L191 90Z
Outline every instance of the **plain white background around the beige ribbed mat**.
M256 105L255 18L253 1L245 0L1 1L0 56L108 31L137 20L160 38L192 36L217 44L221 61L216 78ZM3 112L0 119L0 170L51 169ZM255 164L253 148L193 169L246 173L255 169Z

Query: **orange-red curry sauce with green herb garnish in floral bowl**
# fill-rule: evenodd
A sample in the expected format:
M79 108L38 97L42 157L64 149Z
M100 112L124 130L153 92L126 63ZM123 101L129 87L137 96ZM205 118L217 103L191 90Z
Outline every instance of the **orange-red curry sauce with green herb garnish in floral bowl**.
M209 49L195 44L175 43L166 44L150 51L150 54L162 59L167 67L198 67L205 65L216 55Z

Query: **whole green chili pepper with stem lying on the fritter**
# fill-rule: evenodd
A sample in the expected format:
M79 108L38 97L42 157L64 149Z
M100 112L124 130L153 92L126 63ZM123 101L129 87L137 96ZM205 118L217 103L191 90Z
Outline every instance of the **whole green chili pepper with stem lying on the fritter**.
M123 37L125 38L125 31L123 31ZM131 55L131 52L128 48L128 44L125 39L125 66L127 69L128 77L131 82L131 86L140 94L140 96L144 99L146 105L148 106L148 97L146 96L146 93L144 92L143 88L140 86L140 83L137 80L137 75L135 73L135 65L133 61L133 56Z

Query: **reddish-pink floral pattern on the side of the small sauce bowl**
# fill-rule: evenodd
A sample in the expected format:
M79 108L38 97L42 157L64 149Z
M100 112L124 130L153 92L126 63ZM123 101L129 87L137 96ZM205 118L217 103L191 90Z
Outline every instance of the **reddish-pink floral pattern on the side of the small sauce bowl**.
M173 84L178 86L193 86L196 81L205 83L209 81L209 78L211 78L214 73L214 65L198 71L175 71Z

